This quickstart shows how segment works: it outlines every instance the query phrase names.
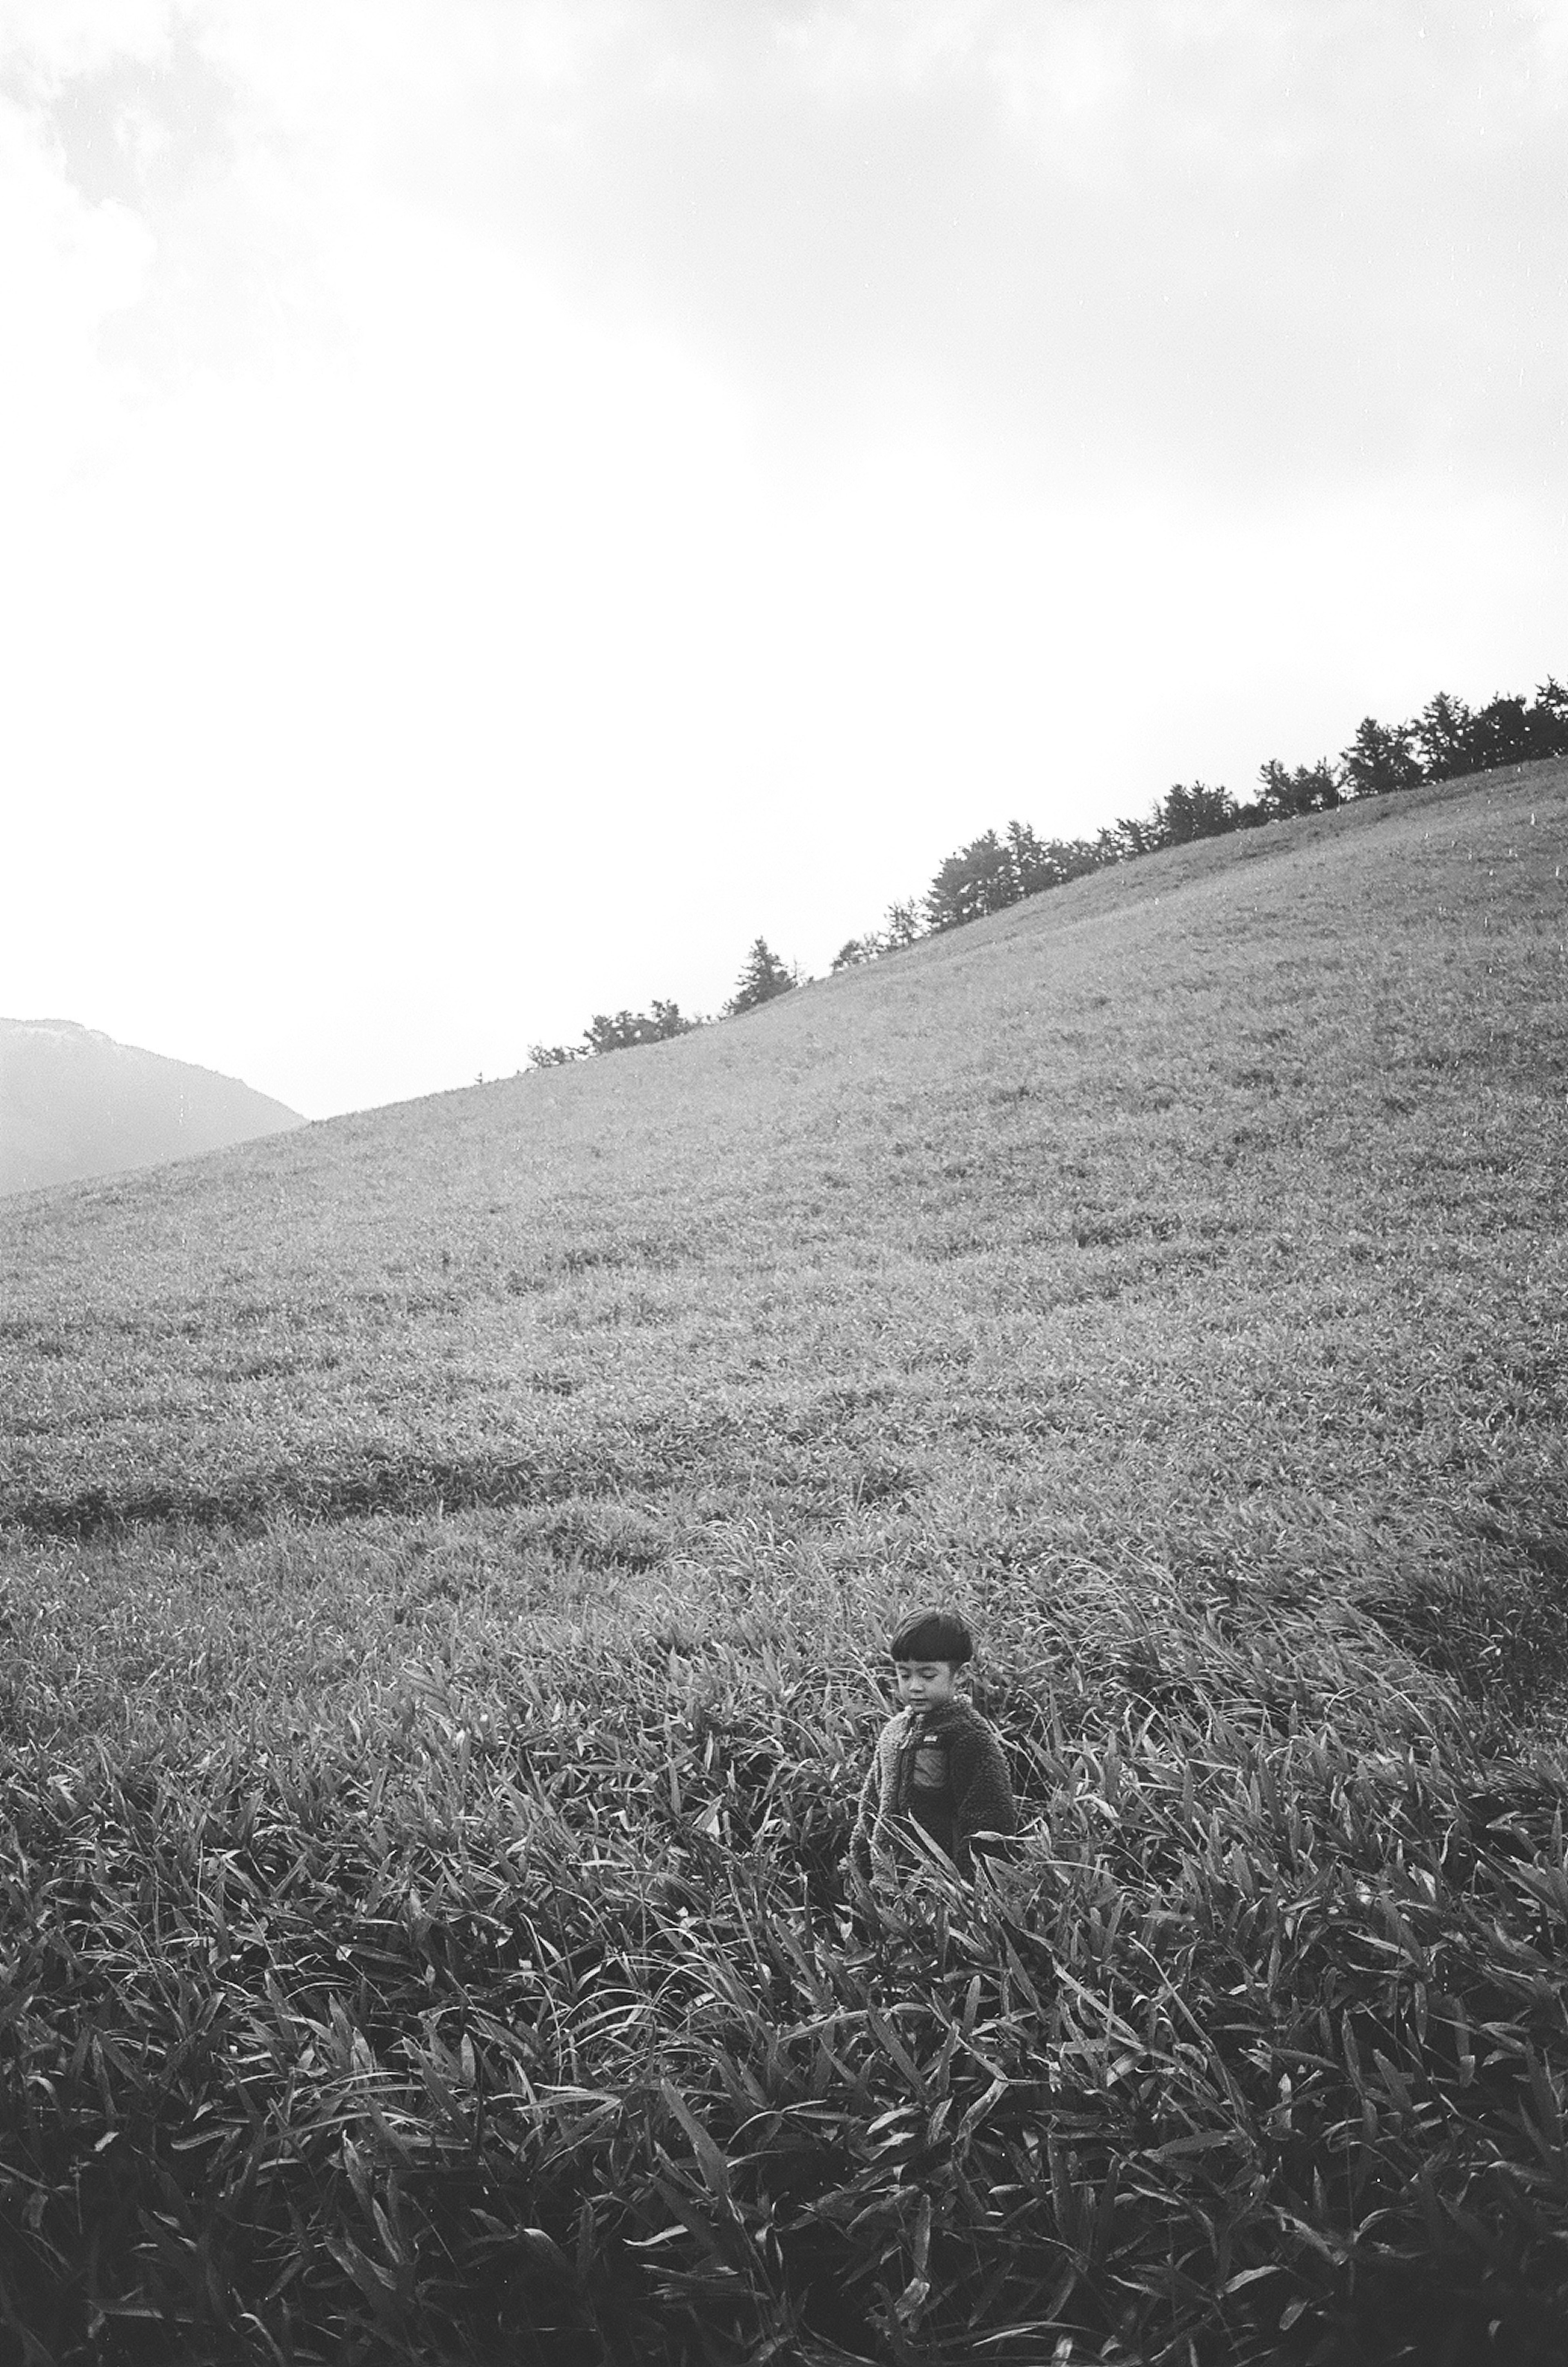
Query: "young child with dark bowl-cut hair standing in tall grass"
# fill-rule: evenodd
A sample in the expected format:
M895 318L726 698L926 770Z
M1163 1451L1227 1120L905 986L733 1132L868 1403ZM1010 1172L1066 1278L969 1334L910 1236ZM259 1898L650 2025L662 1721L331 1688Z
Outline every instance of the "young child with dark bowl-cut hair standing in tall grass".
M889 1863L899 1823L913 1820L967 1875L977 1834L1017 1832L996 1728L958 1692L974 1638L955 1612L918 1612L889 1652L903 1709L877 1735L849 1860L870 1879L873 1865Z

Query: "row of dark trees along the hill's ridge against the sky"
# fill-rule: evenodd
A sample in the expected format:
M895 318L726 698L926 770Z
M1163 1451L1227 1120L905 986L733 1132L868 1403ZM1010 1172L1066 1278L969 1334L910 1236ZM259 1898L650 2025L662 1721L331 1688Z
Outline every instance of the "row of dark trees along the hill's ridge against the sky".
M1041 838L1026 821L1005 831L981 831L967 847L948 854L922 897L887 907L882 925L863 937L849 937L832 956L832 970L858 968L894 954L920 937L937 937L965 921L1005 911L1045 888L1062 888L1107 864L1156 854L1161 847L1190 845L1194 838L1220 838L1227 831L1251 831L1268 821L1294 821L1298 814L1324 814L1355 798L1386 798L1428 781L1454 781L1497 765L1530 765L1568 755L1568 689L1547 677L1535 698L1499 694L1483 708L1438 691L1417 717L1402 724L1379 724L1365 715L1339 760L1320 757L1294 769L1270 757L1258 772L1258 793L1237 802L1227 788L1206 781L1175 781L1156 798L1142 819L1121 817L1095 838ZM773 954L766 937L752 942L736 992L719 1018L738 1018L802 985L799 966ZM683 1013L679 1004L653 1001L650 1011L596 1011L579 1044L530 1044L530 1068L561 1068L605 1051L629 1051L636 1044L662 1044L712 1025L702 1013Z

